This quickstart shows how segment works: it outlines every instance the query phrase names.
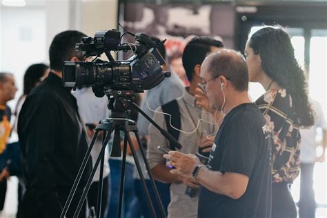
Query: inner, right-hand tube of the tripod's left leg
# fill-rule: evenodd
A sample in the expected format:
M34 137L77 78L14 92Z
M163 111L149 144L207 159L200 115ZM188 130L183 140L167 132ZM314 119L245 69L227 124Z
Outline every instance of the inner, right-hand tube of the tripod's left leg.
M100 162L101 157L103 156L104 150L106 149L107 143L108 143L108 141L110 139L110 135L111 135L111 132L110 132L110 134L108 134L106 136L106 139L104 140L104 143L102 144L100 155L97 158L97 161L95 161L95 167L92 169L92 172L90 174L90 177L88 177L88 182L86 183L86 187L83 190L83 194L81 196L81 199L79 199L79 204L77 205L77 208L75 210L74 218L77 218L78 217L79 212L81 211L81 207L83 206L83 202L86 199L86 195L88 195L88 190L90 189L90 186L91 186L91 183L92 183L92 179L95 176L95 171L97 171L97 167L99 165L99 162Z

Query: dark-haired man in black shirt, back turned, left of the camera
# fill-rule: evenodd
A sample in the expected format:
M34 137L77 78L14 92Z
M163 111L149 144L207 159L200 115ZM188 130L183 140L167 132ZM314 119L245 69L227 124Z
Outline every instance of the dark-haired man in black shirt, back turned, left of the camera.
M30 92L19 113L26 184L19 217L59 217L88 149L76 99L61 81L63 61L81 61L75 43L82 37L86 35L73 30L54 37L49 50L51 72ZM72 217L77 208L91 168L89 161L67 217ZM79 217L86 217L85 202Z

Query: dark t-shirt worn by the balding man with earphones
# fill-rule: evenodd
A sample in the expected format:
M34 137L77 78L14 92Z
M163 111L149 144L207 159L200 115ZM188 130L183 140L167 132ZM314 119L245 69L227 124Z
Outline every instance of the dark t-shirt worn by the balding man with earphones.
M270 217L271 134L259 108L244 103L225 117L210 152L208 168L249 177L239 199L219 195L202 187L199 217Z

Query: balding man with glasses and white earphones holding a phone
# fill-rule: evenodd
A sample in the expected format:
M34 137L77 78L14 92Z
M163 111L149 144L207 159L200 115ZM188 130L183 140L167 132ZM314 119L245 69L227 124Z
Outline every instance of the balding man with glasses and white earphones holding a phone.
M270 217L271 133L248 98L246 61L234 50L210 54L201 66L201 89L225 115L208 165L194 155L164 155L177 175L201 185L198 217Z

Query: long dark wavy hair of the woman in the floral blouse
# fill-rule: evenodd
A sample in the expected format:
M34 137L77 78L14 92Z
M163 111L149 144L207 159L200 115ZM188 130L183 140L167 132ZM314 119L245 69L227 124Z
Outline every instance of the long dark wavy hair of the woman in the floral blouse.
M315 115L308 101L308 83L288 34L280 27L267 26L252 34L249 46L260 55L261 67L268 77L286 88L292 97L299 126L313 126Z

